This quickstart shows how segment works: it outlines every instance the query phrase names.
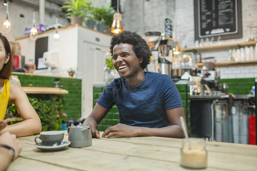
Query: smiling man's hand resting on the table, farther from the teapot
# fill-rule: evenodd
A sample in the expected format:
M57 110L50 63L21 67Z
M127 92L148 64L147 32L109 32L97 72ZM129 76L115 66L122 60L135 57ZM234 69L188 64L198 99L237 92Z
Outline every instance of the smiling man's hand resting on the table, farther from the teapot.
M126 124L117 124L108 127L102 137L110 138L112 136L136 137L138 136L139 127L132 127Z

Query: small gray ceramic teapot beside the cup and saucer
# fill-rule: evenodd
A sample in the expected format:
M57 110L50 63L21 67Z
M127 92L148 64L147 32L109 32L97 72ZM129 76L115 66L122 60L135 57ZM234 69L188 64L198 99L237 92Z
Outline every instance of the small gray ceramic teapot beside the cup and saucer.
M92 145L92 133L89 125L77 125L73 124L68 127L69 141L71 144L69 147L81 148Z

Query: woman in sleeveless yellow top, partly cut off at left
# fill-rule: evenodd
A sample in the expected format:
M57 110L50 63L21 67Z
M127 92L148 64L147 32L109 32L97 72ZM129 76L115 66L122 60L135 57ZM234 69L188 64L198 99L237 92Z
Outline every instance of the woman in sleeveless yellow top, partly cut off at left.
M17 137L23 137L39 133L42 126L39 116L31 106L22 87L9 80L13 69L12 58L10 44L0 33L0 135L10 132ZM7 104L11 103L15 104L23 121L6 126L9 119L4 120L4 116Z

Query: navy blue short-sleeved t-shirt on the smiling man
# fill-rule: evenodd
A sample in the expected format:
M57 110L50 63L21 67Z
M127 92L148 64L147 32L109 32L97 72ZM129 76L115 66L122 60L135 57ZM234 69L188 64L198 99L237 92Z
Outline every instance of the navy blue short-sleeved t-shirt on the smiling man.
M161 128L170 125L165 110L183 107L177 87L168 75L146 72L139 85L129 87L131 79L117 78L105 88L97 103L118 107L120 123L130 126Z

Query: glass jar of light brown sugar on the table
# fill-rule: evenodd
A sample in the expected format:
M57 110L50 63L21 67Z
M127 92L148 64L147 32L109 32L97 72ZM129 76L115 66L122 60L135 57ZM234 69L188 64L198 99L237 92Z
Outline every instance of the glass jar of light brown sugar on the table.
M203 138L189 138L189 142L183 138L180 164L190 169L206 168L207 151L205 145Z

